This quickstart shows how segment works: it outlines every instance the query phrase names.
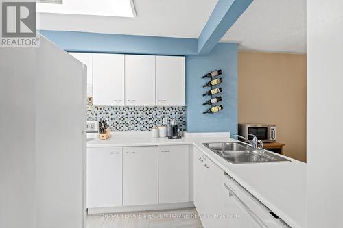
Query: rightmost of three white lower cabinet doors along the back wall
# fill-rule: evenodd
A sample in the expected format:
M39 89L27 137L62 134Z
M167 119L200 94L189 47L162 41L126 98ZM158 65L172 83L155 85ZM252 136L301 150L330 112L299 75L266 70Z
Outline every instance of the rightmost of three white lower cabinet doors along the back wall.
M158 203L189 201L188 146L158 147Z

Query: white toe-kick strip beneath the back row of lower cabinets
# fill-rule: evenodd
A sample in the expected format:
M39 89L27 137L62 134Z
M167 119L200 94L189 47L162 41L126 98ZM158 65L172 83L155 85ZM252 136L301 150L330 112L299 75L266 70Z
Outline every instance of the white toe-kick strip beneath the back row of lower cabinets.
M120 213L120 212L141 212L153 210L173 210L194 207L193 201L185 203L160 203L153 205L121 206L121 207L97 207L88 208L88 214Z

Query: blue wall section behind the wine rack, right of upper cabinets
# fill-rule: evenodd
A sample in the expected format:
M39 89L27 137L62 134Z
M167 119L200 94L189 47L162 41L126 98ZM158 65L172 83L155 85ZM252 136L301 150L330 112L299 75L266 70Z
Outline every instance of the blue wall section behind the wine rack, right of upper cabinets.
M206 56L186 58L186 130L188 132L230 131L237 134L237 44L219 43ZM215 69L222 69L220 102L224 109L215 114L202 114L210 105L202 105L209 96L202 94L209 88L202 88L209 79L202 75Z

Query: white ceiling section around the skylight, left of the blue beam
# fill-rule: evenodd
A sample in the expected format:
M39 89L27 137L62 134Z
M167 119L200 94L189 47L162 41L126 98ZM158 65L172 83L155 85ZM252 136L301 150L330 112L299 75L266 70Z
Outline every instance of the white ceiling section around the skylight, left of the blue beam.
M60 31L198 38L216 3L217 0L134 0L136 18L40 13L37 27Z

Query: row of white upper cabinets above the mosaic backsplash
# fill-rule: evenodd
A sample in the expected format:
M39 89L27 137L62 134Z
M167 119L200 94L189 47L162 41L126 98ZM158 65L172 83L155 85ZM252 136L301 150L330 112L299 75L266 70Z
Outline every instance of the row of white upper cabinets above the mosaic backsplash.
M70 53L99 106L185 106L185 57Z

